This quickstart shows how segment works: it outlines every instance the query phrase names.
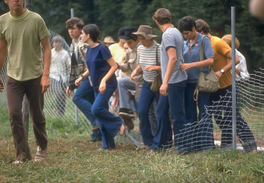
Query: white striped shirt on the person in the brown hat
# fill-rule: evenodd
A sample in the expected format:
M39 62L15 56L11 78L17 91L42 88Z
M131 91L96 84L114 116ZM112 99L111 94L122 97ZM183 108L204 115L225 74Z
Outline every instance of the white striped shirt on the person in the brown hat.
M156 50L159 46L158 43L153 42L153 45L149 48L139 45L137 49L137 62L143 70L143 78L145 81L153 82L157 76L157 71L145 71L145 66L156 65ZM158 64L160 65L160 47L158 47Z

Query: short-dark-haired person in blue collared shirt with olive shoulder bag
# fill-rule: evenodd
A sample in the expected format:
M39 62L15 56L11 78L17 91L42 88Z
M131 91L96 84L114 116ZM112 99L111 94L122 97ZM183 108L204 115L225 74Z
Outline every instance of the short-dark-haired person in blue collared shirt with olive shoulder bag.
M200 61L200 45L202 35L198 33L196 29L196 23L192 17L183 17L178 25L178 29L183 33L187 39L186 49L183 53L184 64L180 65L182 71L187 72L187 85L184 90L184 105L185 105L185 118L188 123L198 122L197 120L197 104L199 109L199 128L197 138L193 138L193 149L201 150L208 149L214 146L211 141L212 126L210 124L209 114L205 111L205 106L209 105L208 92L199 91L197 103L193 98L194 90L197 86L197 81L200 73L200 67L203 68L205 74L209 73L208 66L214 64L214 52L211 46L211 42L208 37L203 39L204 60Z

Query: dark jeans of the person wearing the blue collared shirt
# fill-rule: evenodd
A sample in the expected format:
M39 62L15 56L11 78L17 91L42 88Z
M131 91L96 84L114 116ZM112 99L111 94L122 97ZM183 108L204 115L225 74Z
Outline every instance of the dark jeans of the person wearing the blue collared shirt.
M210 93L199 91L197 102L193 99L194 90L197 83L187 83L184 90L185 118L188 124L194 126L194 131L190 137L196 146L193 150L202 150L214 147L214 141L211 140L213 128L210 123L209 114L205 107L209 106ZM199 115L197 119L197 104ZM198 122L198 123L194 123Z

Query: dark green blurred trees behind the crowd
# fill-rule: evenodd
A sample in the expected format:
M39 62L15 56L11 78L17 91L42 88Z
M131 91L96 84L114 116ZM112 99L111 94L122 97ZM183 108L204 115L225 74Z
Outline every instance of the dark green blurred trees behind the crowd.
M70 9L85 24L96 23L101 30L101 40L107 35L117 39L122 26L150 25L161 42L162 32L158 29L153 14L158 8L167 8L172 14L172 24L177 27L180 18L192 16L207 21L212 35L222 37L231 33L231 6L236 7L236 37L240 41L240 52L246 57L250 72L263 67L264 21L253 18L248 11L248 0L32 0L33 11L39 13L48 28L71 39L65 28L70 18ZM0 2L0 14L9 9ZM117 40L116 40L117 41Z

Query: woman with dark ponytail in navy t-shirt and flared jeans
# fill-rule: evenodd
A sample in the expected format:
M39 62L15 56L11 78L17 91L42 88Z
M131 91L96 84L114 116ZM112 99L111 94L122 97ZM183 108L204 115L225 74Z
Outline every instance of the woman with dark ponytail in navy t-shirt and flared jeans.
M83 78L91 76L95 95L92 113L98 119L102 134L103 146L99 149L101 150L115 148L114 136L118 131L120 135L123 135L125 126L121 117L114 116L108 110L108 100L117 87L114 74L117 64L108 47L98 42L99 36L100 31L95 24L89 24L82 28L82 41L89 44L86 52L88 70L75 81L75 84L79 85Z

